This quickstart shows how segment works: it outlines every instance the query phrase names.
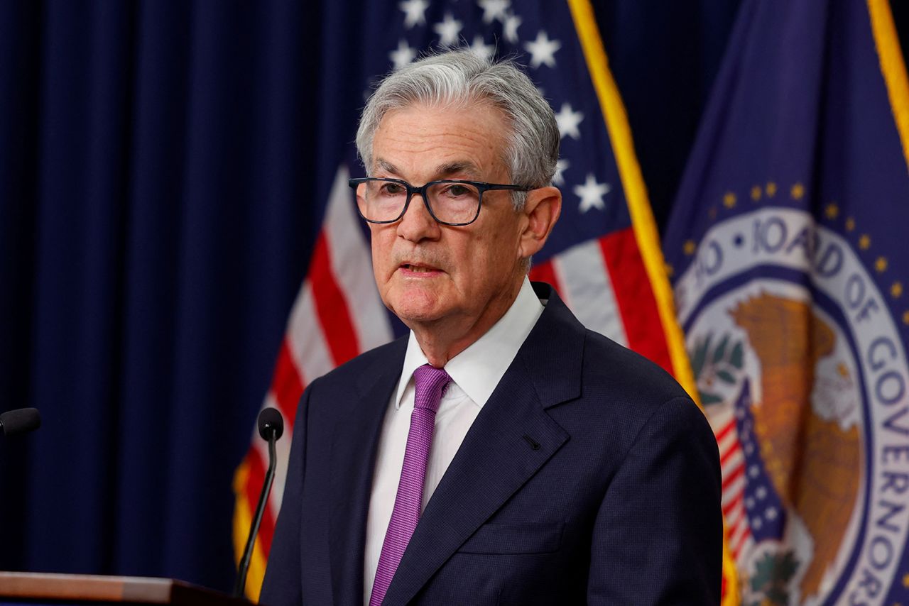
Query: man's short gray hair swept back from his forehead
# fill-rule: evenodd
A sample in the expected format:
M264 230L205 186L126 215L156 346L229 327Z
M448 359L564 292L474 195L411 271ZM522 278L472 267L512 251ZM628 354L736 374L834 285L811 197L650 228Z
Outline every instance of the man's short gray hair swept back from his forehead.
M510 60L497 63L462 49L429 55L385 77L369 97L356 132L356 149L367 171L373 164L373 137L389 111L414 104L464 107L486 103L510 123L503 161L514 184L552 183L559 157L559 129L553 108L530 78ZM515 208L526 194L514 192Z

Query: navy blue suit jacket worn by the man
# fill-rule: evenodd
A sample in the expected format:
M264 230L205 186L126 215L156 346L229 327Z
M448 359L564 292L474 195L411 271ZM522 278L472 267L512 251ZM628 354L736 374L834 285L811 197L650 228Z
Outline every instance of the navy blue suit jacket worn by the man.
M720 468L669 374L558 295L464 437L385 604L718 604ZM402 338L300 402L261 601L363 604L376 445Z

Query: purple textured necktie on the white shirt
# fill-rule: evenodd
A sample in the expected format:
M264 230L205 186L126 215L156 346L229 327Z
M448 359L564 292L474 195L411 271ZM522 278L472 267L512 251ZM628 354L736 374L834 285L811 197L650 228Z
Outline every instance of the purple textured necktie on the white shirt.
M401 481L398 482L398 492L395 495L395 509L392 510L385 541L382 542L379 565L375 569L375 583L369 596L369 606L379 606L385 599L385 591L388 591L388 586L392 583L407 542L420 519L426 464L433 445L435 412L439 410L445 385L451 380L443 369L429 364L414 371L414 413L410 417L410 431L407 432L404 466L401 468Z

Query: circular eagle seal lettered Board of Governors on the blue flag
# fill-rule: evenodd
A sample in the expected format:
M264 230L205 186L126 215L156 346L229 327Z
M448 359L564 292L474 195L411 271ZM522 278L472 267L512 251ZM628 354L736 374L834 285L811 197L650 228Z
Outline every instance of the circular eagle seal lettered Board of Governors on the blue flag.
M909 369L884 294L793 208L720 221L690 252L676 306L742 603L882 603L909 529Z

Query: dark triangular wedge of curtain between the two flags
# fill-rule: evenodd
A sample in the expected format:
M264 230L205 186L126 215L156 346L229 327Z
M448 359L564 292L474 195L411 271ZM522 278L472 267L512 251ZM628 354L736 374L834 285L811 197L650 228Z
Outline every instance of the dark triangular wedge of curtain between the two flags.
M741 0L593 4L662 232Z

